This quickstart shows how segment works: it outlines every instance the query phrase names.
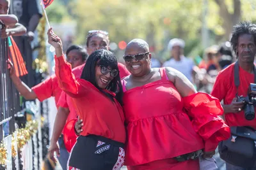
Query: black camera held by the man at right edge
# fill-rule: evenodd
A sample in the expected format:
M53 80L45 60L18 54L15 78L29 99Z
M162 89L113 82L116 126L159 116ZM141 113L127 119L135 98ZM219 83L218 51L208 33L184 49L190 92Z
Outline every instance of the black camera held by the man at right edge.
M246 97L237 97L237 102L244 102L243 110L244 117L246 120L253 120L255 118L255 110L256 106L256 84L250 83L248 94Z

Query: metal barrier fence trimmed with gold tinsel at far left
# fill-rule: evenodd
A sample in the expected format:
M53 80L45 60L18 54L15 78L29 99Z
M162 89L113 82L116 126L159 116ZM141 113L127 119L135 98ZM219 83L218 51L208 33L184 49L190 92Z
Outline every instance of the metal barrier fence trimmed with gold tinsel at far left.
M3 29L4 25L0 23L0 29ZM1 38L1 32L0 32ZM10 56L8 39L1 38L0 40L0 143L4 143L4 147L7 151L7 159L5 167L0 165L1 169L13 170L13 169L28 169L38 170L42 167L44 143L42 142L42 131L41 131L41 114L42 110L47 111L43 108L39 101L36 101L37 111L34 120L38 122L38 131L29 139L28 143L18 150L15 146L17 156L12 157L12 134L15 136L15 127L19 125L19 113L23 113L26 107L21 110L20 107L20 96L19 92L15 89L15 86L10 79L9 69L7 60ZM13 56L14 57L14 56ZM47 103L45 101L44 103ZM41 107L40 107L41 106ZM44 115L43 115L44 116ZM26 119L26 116L24 117ZM23 119L24 119L23 118ZM22 120L23 120L22 119ZM16 121L16 122L15 122ZM22 122L22 121L21 121ZM17 123L17 124L15 124ZM26 120L21 123L26 124ZM22 126L19 125L19 128ZM45 127L44 127L45 128ZM45 135L45 133L44 133ZM47 136L47 135L45 135ZM15 138L15 137L14 137ZM44 138L43 138L44 139ZM49 141L49 138L44 140ZM21 154L20 154L21 153Z

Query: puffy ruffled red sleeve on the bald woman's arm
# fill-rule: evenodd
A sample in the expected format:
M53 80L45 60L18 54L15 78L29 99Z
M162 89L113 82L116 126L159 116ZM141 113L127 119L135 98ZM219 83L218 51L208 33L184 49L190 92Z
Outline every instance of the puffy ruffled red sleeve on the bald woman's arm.
M218 117L223 114L220 101L198 92L183 98L184 109L191 117L195 131L204 139L205 151L213 151L220 141L230 137L230 128Z

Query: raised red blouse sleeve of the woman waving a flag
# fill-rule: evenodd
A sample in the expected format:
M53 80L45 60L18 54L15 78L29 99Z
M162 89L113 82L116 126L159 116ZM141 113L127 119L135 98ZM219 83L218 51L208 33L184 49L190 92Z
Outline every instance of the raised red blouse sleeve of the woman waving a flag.
M71 97L81 97L86 93L86 89L81 87L80 83L72 73L71 65L65 61L64 56L56 57L55 59L55 74L58 78L58 84L64 92Z

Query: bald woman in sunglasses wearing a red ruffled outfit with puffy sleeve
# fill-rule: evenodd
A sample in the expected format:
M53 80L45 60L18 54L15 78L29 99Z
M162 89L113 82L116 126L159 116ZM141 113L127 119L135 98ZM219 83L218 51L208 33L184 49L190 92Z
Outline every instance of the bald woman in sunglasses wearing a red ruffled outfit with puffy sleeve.
M212 157L230 129L218 115L220 101L196 93L171 67L151 68L148 44L132 40L125 49L125 164L130 170L198 170L198 157Z

